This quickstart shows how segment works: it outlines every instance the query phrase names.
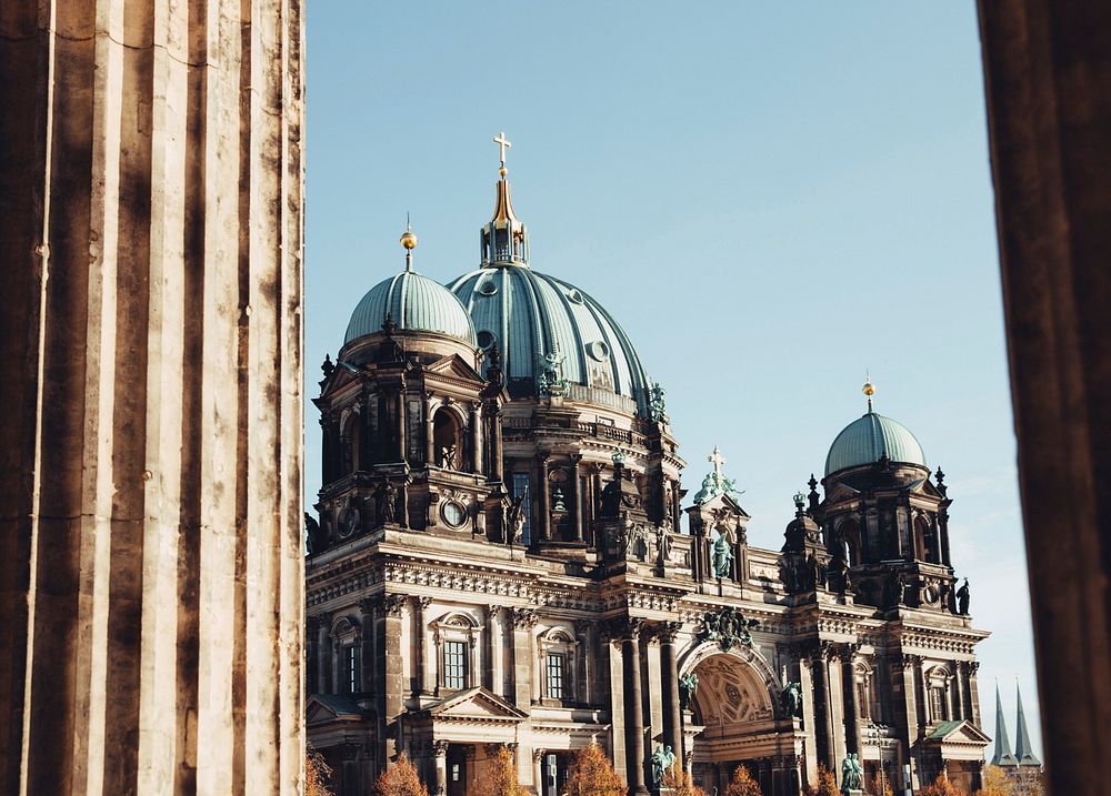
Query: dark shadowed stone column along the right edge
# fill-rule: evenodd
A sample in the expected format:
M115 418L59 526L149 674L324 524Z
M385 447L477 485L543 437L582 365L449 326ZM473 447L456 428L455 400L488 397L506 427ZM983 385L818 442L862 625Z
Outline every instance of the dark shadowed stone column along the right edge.
M1111 757L1111 9L980 2L1019 484L1053 793Z

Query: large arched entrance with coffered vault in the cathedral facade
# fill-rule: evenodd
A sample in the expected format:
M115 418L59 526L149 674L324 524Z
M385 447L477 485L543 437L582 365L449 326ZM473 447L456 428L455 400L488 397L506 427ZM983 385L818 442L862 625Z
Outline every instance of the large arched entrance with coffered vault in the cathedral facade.
M767 796L798 794L803 736L792 719L779 717L780 685L767 662L750 647L722 651L711 642L693 651L682 671L698 675L684 716L694 782L724 793L744 765Z

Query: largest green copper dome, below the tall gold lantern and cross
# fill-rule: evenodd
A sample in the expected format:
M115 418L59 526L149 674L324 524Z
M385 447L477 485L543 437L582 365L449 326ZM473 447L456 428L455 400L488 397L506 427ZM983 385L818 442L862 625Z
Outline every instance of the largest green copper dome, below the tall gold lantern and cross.
M609 312L563 280L527 266L481 268L450 285L478 330L498 346L509 393L537 394L549 355L562 357L569 397L642 415L649 379L628 335Z

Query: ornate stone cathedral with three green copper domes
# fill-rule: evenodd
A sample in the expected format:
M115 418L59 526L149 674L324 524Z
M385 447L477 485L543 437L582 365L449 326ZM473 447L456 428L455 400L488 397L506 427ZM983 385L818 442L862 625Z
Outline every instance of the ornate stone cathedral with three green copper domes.
M509 747L558 796L589 744L633 795L668 765L708 793L741 765L768 796L819 765L865 793L979 786L988 633L944 474L865 384L782 547L749 545L717 450L683 487L665 392L617 319L533 270L494 140L479 266L439 284L407 231L313 400L307 723L336 793L406 753L430 794L462 796Z

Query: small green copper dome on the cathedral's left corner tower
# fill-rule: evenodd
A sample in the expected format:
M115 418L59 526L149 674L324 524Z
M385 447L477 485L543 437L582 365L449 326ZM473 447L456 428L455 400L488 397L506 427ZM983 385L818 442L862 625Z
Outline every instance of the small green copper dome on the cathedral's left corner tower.
M439 282L416 271L402 271L379 282L351 313L343 344L382 331L389 315L398 329L439 332L477 345L474 324L459 299Z

